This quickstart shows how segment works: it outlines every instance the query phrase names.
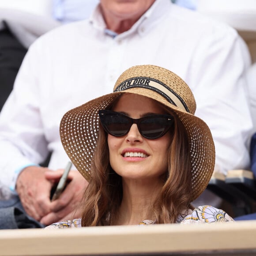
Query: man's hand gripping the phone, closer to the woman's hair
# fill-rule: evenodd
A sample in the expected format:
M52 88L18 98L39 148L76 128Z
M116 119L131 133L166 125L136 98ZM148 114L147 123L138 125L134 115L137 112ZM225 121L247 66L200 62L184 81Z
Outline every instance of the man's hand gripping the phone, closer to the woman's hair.
M64 170L45 172L45 178L51 182L59 180ZM60 197L50 203L50 212L41 218L40 222L50 225L61 220L81 217L81 203L88 182L75 170L68 174L70 181Z

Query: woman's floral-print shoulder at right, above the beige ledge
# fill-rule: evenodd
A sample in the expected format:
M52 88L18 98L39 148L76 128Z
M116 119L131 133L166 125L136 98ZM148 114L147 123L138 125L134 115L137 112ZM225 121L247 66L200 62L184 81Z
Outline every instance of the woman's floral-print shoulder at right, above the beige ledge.
M198 206L194 210L189 210L188 215L181 216L177 222L181 224L190 223L211 223L211 222L230 222L234 221L225 211L210 205Z

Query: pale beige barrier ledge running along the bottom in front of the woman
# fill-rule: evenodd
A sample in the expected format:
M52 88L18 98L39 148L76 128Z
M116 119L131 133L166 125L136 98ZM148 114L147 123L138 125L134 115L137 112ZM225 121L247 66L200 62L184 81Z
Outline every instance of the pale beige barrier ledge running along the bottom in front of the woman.
M211 255L216 252L218 255L256 254L256 221L0 231L0 255L5 256Z

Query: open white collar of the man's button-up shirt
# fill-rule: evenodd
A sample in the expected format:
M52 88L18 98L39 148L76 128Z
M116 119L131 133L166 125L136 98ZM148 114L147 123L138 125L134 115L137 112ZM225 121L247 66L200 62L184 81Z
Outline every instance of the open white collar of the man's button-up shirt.
M168 12L168 9L171 6L170 0L156 0L154 4L152 4L151 8L149 8L140 19L132 26L132 28L128 31L125 31L122 34L117 34L111 30L106 29L105 21L102 16L100 4L96 6L94 11L92 12L89 22L94 26L95 29L101 30L105 34L110 35L111 37L124 37L127 34L138 33L143 35L147 33L147 30L150 28L150 25L160 19L163 15Z

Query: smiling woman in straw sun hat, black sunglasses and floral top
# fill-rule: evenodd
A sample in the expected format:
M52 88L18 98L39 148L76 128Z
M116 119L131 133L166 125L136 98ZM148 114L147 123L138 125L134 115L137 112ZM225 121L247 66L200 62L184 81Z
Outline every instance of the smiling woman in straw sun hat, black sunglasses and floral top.
M142 65L120 75L113 93L66 113L60 137L89 185L82 218L48 228L232 221L191 205L215 165L211 132L195 110L180 77Z

